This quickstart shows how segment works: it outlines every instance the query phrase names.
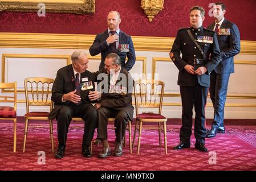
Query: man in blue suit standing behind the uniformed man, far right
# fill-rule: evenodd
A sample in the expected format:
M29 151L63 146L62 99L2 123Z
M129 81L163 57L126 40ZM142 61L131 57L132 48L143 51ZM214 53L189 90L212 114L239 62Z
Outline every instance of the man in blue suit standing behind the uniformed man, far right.
M208 29L217 33L221 51L221 62L210 74L210 98L214 107L214 121L212 129L206 137L213 138L217 133L225 133L224 107L227 95L227 84L230 73L234 73L234 56L240 52L240 34L237 26L224 18L226 5L217 2L213 15L215 22Z

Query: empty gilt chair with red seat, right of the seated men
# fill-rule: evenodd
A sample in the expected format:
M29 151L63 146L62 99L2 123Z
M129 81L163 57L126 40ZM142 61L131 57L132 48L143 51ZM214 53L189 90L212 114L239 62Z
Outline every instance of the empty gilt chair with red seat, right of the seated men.
M161 130L164 131L164 148L167 154L166 142L166 121L162 112L162 99L164 97L164 82L160 80L137 80L134 86L135 91L135 107L136 107L136 123L133 137L133 146L135 144L136 131L139 130L139 139L137 146L137 154L140 152L141 130L145 122L158 122L158 127L145 127L144 129L158 129L159 130L159 146L161 147ZM139 114L139 107L157 108L158 113L141 113ZM163 123L163 126L161 126Z

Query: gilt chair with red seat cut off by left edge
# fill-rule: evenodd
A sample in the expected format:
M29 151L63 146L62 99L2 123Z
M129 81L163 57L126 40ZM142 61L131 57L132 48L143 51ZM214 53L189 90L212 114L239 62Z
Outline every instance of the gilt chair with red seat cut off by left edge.
M0 119L13 120L14 135L13 135L13 152L16 152L16 125L17 125L17 82L0 83L0 89L8 89L14 93L14 96L0 96L0 102L11 102L11 106L0 106Z

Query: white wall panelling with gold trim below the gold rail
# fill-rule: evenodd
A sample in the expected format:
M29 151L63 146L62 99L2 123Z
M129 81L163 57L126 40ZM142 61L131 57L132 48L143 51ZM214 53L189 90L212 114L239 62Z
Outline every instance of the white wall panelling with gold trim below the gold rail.
M34 54L34 55L71 55L75 49L46 49L46 48L0 48L2 54ZM87 50L90 60L88 70L97 71L100 63L100 55L91 57ZM131 73L140 75L147 73L147 78L152 78L152 73L158 73L160 80L165 82L165 93L179 93L177 85L178 69L169 61L169 52L149 52L136 51L138 58ZM1 58L2 59L2 58ZM153 60L156 59L155 65ZM162 61L161 61L162 59ZM256 118L256 56L255 55L237 55L235 60L249 61L250 64L235 64L235 73L231 74L228 94L235 97L228 97L225 107L225 118ZM18 87L23 88L23 79L28 76L54 77L58 68L66 65L65 59L36 58L26 59L18 57L7 57L5 66L5 81L18 81ZM0 65L3 72L2 64ZM153 70L155 69L155 70ZM135 78L136 79L136 78ZM0 93L2 94L2 93ZM249 96L249 97L243 97ZM254 97L255 96L255 97ZM25 100L24 93L18 93L18 100ZM168 118L181 118L181 98L164 97L164 106L162 114ZM26 106L24 103L18 103L18 115L25 114ZM43 108L42 108L43 110ZM149 109L145 109L149 111ZM155 111L155 110L153 110ZM210 98L206 107L206 117L213 118L213 107Z

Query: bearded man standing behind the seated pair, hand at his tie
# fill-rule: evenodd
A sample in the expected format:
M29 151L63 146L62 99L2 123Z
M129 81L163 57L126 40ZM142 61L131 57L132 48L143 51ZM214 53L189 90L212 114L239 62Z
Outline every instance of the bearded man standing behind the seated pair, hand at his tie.
M117 11L108 13L108 30L98 34L90 47L90 54L95 56L101 53L99 70L104 68L105 57L109 53L117 53L121 58L121 67L127 71L135 64L136 56L131 36L120 30L121 16ZM126 57L128 58L125 63Z

